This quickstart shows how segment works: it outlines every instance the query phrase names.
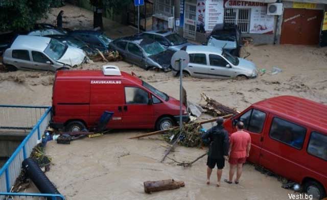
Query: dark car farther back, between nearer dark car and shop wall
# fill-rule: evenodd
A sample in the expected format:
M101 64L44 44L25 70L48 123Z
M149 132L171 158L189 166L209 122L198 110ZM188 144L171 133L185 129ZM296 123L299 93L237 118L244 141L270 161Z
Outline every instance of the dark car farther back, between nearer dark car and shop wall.
M177 33L170 31L147 31L139 34L138 36L153 39L174 52L179 51L184 46L196 45L188 42L188 40L181 37Z

